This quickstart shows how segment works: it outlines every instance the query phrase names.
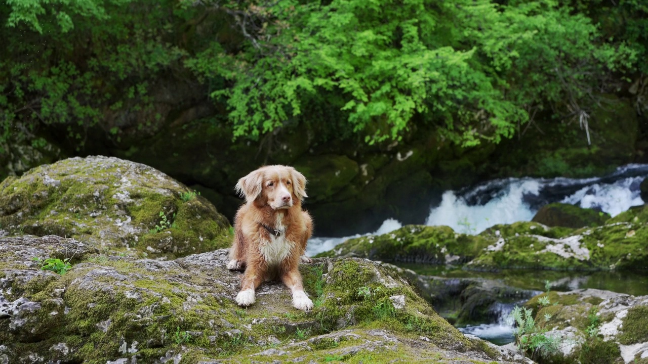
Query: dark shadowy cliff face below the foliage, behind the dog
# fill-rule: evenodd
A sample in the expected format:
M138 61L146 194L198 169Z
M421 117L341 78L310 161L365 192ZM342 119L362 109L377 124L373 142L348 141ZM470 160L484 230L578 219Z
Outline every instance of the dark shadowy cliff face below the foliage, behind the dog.
M375 231L388 218L424 223L446 189L493 177L601 175L642 155L632 101L612 95L590 115L591 145L577 122L543 115L498 145L460 148L422 123L401 142L373 146L354 136L323 136L321 128L308 124L257 142L233 140L226 111L204 97L207 91L198 82L157 80L150 90L156 121L141 122L152 119L142 112L106 108L106 120L80 130L81 148L66 136L65 124L49 125L40 128L44 146L17 138L11 153L0 157L1 172L21 174L66 156L114 155L153 166L200 191L231 221L242 203L233 188L240 177L261 165L293 165L309 181L305 208L314 216L315 234L345 236Z

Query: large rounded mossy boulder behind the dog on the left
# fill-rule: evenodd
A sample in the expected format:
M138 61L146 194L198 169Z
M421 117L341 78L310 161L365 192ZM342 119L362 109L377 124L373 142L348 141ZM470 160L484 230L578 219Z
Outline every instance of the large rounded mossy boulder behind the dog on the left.
M0 226L159 259L231 243L229 222L209 201L154 168L114 157L75 157L8 177Z

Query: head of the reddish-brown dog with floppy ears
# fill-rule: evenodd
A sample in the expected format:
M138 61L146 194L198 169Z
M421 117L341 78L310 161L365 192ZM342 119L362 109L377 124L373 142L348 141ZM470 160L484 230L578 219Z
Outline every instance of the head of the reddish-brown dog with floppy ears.
M237 192L246 201L259 201L272 209L290 209L307 198L306 177L289 166L264 166L238 180Z

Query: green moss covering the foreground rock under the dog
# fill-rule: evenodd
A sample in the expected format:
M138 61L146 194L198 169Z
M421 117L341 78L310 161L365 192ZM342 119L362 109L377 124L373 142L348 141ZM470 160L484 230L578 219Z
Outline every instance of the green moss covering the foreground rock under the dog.
M321 299L310 312L295 310L290 291L281 284L270 294L257 295L257 303L250 308L239 308L231 299L235 295L231 287L231 282L236 281L234 273L220 266L189 269L183 262L187 261L86 256L66 275L52 274L53 280L44 280L37 290L25 295L43 307L29 326L33 331L29 336L17 339L8 330L8 320L2 320L0 341L11 343L16 356L33 352L43 358L54 358L50 348L63 342L71 354L57 356L57 360L88 363L133 355L148 362L167 353L181 353L182 361L187 363L215 358L225 362L301 357L318 361L340 352L345 361L353 361L368 358L365 347L373 342L380 344L371 344L367 350L371 355L378 354L378 363L386 362L385 358L412 362L437 356L448 359L438 347L451 348L454 356L457 350L496 355L439 317L396 271L369 260L301 264L307 292ZM27 282L16 284L26 291L23 285ZM358 293L359 287L367 287L371 295ZM403 295L406 305L393 308L389 298L393 295ZM385 315L376 315L376 306L389 310ZM345 331L336 333L340 328ZM286 350L288 354L252 356L288 345L295 340L297 330L303 333L303 343ZM396 341L368 334L375 330ZM329 333L323 338L314 337ZM271 336L275 337L273 341ZM421 336L432 343L422 341ZM390 343L389 347L384 346L385 342ZM137 352L124 353L125 349ZM426 362L423 359L421 362Z

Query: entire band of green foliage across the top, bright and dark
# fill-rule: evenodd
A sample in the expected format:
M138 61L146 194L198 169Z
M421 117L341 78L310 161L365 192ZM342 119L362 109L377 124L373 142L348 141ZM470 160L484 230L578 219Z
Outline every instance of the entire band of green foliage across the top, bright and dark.
M77 148L93 128L155 131L167 78L202 81L235 137L302 124L498 142L538 110L582 120L612 74L646 72L647 14L640 0L9 0L0 144L42 146L49 126Z

